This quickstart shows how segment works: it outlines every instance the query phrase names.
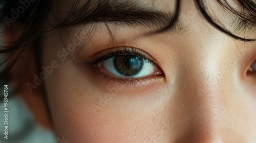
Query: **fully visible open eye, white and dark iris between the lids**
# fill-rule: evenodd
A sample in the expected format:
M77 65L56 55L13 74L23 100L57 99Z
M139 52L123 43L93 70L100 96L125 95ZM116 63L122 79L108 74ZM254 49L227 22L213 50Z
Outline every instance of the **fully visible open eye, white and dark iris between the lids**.
M136 55L114 56L103 61L101 65L106 71L117 77L141 78L161 74L159 67Z

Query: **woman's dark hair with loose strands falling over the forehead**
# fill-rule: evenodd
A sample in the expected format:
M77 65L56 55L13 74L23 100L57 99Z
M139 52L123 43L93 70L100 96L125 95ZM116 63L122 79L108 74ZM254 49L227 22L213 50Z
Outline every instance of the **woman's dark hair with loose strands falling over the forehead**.
M26 3L27 2L27 3ZM74 4L74 8L77 8L79 0ZM104 6L105 3L108 3L109 0L103 0L97 1L98 7ZM226 0L217 0L217 2L223 6L226 10L228 10L232 15L240 19L239 23L236 23L238 25L238 29L252 29L256 26L256 2L253 0L237 0L236 3L242 7L242 11L237 10L236 8L232 7ZM9 70L12 68L14 63L16 62L15 59L12 59L12 55L18 54L22 55L22 52L26 47L28 47L31 44L36 44L38 46L34 46L33 51L37 55L37 63L40 65L40 35L42 33L42 29L44 27L44 24L47 20L47 17L49 15L50 10L52 7L54 7L55 1L53 0L44 0L44 1L39 1L39 0L0 0L0 5L2 5L0 9L0 25L2 26L2 34L6 34L6 28L10 27L12 25L11 20L9 17L12 17L13 11L15 10L22 10L20 9L20 5L22 3L26 3L24 6L27 6L26 10L24 11L23 14L20 14L19 16L16 17L15 22L23 23L24 25L24 30L22 34L19 36L17 41L13 43L9 43L9 45L0 46L0 54L6 54L5 59L3 63L8 63L6 64L5 68L1 71L0 73L0 79L5 79L11 80L14 77L20 77L20 75L15 75L12 73L9 74ZM29 3L29 6L28 6ZM86 11L89 12L87 17L83 17L84 19L88 18L90 19L91 22L97 21L98 19L93 18L95 16L95 11L90 5L92 5L94 1L88 1L85 7L83 7L80 11L71 11L71 12L76 12L73 17L67 16L67 19L62 19L62 21L59 22L59 25L55 26L52 30L57 30L60 28L65 28L68 26L71 26L72 24L75 25L77 21L72 21L75 16L81 14L82 12ZM113 3L113 2L112 2ZM179 9L180 9L180 1L176 1L176 13L174 17L172 18L173 21L169 23L167 27L162 28L160 31L164 31L170 27L172 27L175 22L178 19L179 16ZM205 6L205 3L202 2L202 0L195 0L195 4L198 7L198 10L202 14L202 16L215 28L219 29L220 31L224 32L225 34L233 37L234 39L242 40L242 41L255 41L256 38L246 38L246 37L239 37L233 32L227 30L224 26L221 25L221 23L218 23L218 19L214 18L209 14L207 7ZM88 9L91 9L88 11ZM57 14L55 15L56 18L63 18L63 17L57 17ZM72 23L73 22L73 23ZM2 56L3 57L3 56ZM11 61L11 62L10 62ZM1 65L3 65L3 63ZM38 67L38 72L41 69Z

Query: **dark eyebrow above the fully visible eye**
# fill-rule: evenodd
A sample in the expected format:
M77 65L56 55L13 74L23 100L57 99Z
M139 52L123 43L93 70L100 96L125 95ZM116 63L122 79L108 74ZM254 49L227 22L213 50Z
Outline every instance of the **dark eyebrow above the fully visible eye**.
M67 18L59 23L59 27L106 22L117 26L143 27L162 32L175 26L174 23L178 21L178 11L176 9L174 12L164 13L131 1L88 2L79 10L71 11Z

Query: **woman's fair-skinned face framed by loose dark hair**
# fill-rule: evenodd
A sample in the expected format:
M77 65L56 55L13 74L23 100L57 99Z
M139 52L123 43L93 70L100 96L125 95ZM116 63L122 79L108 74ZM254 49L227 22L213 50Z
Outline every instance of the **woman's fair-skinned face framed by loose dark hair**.
M63 16L73 3L59 2ZM134 4L166 15L176 8L170 0ZM245 34L217 2L205 5L228 30ZM46 28L56 23L52 13ZM212 27L194 1L181 1L177 24L165 32L150 33L157 25L148 23L94 22L61 36L44 33L41 77L56 135L70 142L256 140L256 43Z

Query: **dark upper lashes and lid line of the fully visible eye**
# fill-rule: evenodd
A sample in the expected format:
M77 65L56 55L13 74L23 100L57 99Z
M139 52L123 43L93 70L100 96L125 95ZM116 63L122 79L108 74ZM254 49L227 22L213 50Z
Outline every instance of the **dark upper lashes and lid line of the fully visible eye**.
M93 58L93 59L95 59L94 61L84 62L84 64L86 64L86 65L96 65L96 64L101 63L105 60L108 60L112 57L121 56L121 55L139 56L145 62L151 63L152 65L156 65L155 62L154 62L155 59L148 58L147 56L145 56L142 53L138 52L137 50L133 49L132 47L123 47L122 49L118 49L117 51L113 51L113 52L110 52L108 54L104 54L104 56L101 56L99 58Z

